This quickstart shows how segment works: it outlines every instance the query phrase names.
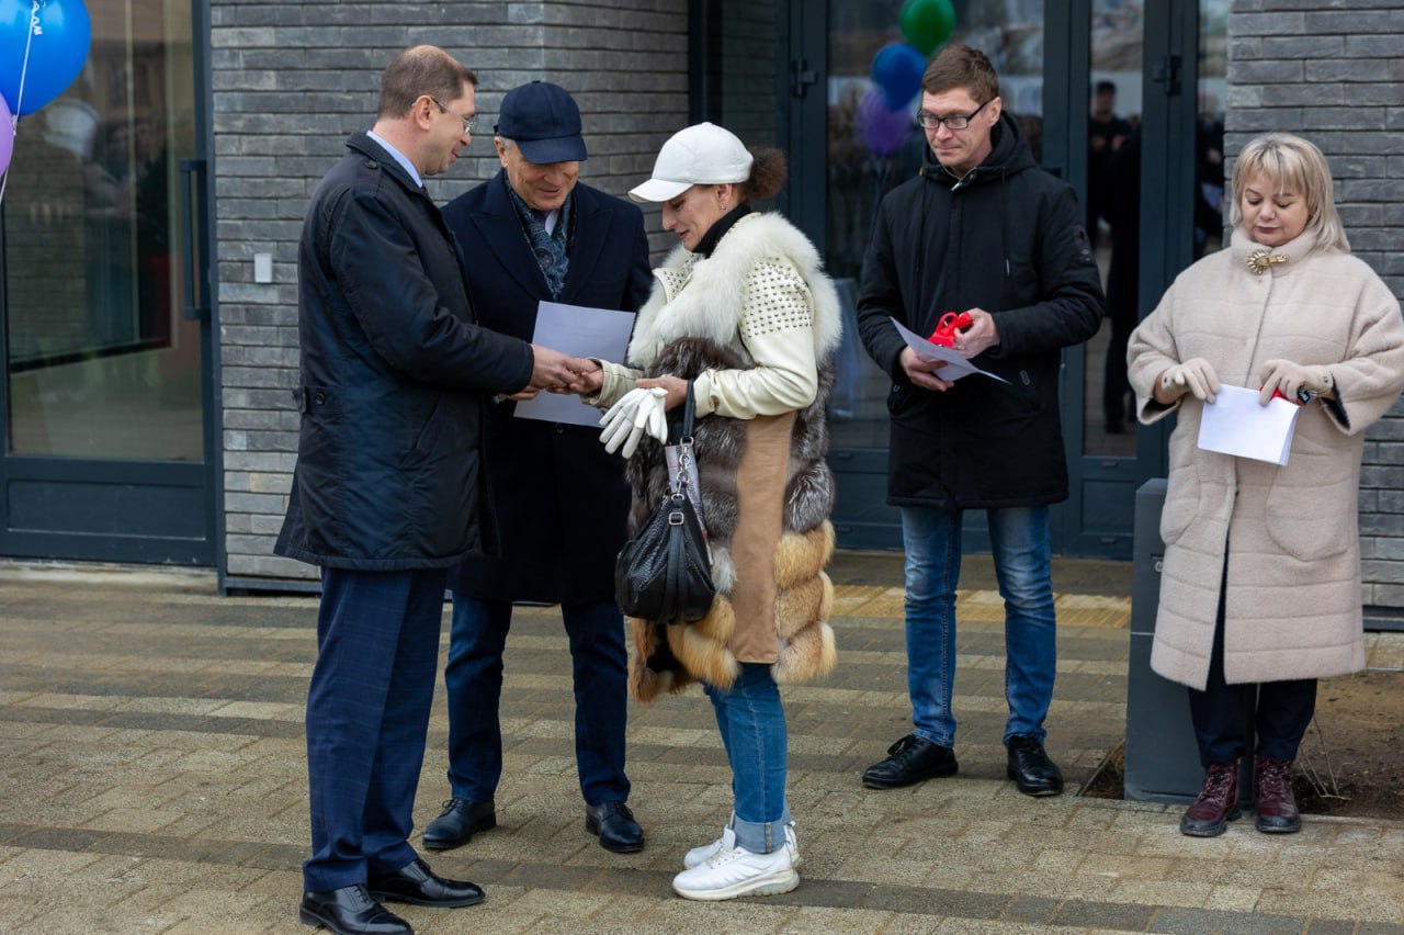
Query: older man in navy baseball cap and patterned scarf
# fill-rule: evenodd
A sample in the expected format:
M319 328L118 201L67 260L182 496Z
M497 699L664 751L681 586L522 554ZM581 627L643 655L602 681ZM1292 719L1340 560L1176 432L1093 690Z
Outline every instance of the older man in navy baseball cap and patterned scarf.
M651 285L643 215L578 184L587 153L576 101L548 81L522 84L503 98L496 132L501 171L444 209L479 323L529 341L543 300L636 312ZM517 402L534 394L503 399L484 425L501 553L449 573L451 797L424 830L424 847L456 848L497 824L503 647L512 602L525 601L560 605L574 668L585 831L628 854L643 847L626 804L628 654L614 598L629 486L623 460L605 452L598 428L514 418Z

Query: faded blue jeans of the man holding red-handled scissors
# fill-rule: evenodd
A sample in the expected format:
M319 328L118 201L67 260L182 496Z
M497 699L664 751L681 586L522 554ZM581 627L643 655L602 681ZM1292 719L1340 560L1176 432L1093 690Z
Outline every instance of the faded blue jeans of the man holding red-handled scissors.
M903 507L907 552L907 689L915 734L955 747L951 712L956 664L956 583L960 580L958 507ZM994 573L1004 598L1004 741L1043 740L1057 668L1047 507L986 510Z

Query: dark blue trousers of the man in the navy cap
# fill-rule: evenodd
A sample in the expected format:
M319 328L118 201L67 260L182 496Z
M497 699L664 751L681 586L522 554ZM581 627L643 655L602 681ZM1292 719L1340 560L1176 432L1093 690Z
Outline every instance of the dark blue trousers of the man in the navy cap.
M612 601L563 604L576 687L576 768L587 804L626 802L623 772L629 656L623 616ZM491 802L503 775L503 647L508 601L453 594L448 665L448 782L455 799Z

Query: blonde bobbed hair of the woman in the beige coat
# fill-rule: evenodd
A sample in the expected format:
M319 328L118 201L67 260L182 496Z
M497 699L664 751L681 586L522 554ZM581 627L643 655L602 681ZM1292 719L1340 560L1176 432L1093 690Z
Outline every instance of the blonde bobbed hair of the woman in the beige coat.
M1331 253L1351 253L1341 215L1335 212L1331 167L1316 143L1292 133L1255 136L1238 153L1233 167L1233 205L1230 219L1243 223L1243 192L1248 180L1259 177L1276 191L1294 188L1307 202L1306 229L1316 234L1317 247Z

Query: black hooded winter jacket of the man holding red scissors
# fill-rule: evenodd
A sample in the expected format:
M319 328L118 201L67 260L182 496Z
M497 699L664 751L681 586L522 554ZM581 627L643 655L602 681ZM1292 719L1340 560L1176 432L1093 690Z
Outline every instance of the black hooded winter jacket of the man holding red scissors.
M1045 173L1002 115L963 180L927 150L883 198L863 260L858 329L893 380L887 503L1032 507L1067 498L1061 348L1097 333L1102 286L1071 187ZM928 336L946 312L994 316L1000 344L945 393L917 387L889 317Z

